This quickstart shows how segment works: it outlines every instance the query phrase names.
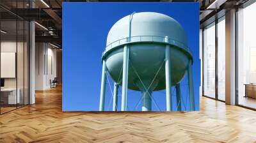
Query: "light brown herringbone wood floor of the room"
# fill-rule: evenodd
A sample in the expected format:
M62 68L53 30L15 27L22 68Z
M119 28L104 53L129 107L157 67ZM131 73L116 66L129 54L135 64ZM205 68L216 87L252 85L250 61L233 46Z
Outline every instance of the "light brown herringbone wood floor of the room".
M200 99L200 112L61 112L61 88L0 116L0 142L256 142L256 112Z

